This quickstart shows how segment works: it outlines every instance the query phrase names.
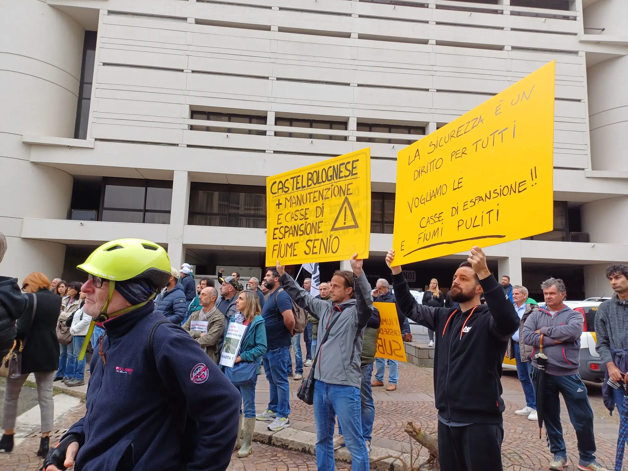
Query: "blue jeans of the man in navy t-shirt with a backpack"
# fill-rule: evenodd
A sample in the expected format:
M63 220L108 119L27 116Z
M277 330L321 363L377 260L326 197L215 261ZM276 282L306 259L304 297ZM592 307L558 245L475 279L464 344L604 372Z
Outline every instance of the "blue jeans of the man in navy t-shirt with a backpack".
M290 347L267 350L263 357L264 372L270 386L268 410L277 413L279 418L290 415L290 383L288 383L290 361Z

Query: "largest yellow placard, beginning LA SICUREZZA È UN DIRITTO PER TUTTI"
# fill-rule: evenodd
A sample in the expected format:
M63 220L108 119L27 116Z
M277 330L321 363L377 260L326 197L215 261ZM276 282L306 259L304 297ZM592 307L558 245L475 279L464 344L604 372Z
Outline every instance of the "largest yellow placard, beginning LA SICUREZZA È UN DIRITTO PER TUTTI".
M399 151L394 264L553 229L554 80L552 61Z

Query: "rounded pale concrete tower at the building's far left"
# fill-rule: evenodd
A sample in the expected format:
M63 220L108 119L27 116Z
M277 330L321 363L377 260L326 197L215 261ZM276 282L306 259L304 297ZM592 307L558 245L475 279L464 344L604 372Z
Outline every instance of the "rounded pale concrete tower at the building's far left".
M63 272L65 245L21 239L22 221L67 219L72 175L31 163L22 136L73 137L85 31L38 0L0 0L0 11L11 13L0 16L0 232L8 238L1 271L52 279Z

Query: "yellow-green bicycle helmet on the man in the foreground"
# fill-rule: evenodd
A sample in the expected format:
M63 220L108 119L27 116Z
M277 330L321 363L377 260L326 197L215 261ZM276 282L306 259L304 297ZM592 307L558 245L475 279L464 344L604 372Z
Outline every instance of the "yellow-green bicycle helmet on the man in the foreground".
M170 259L163 247L143 239L117 239L98 247L77 266L106 281L148 279L156 291L170 279Z

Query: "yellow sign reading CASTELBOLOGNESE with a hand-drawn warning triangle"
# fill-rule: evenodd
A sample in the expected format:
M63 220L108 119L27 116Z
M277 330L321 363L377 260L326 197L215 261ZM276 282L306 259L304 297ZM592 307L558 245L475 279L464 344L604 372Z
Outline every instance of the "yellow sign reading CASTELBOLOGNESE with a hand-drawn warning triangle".
M266 264L369 257L371 149L266 178Z

